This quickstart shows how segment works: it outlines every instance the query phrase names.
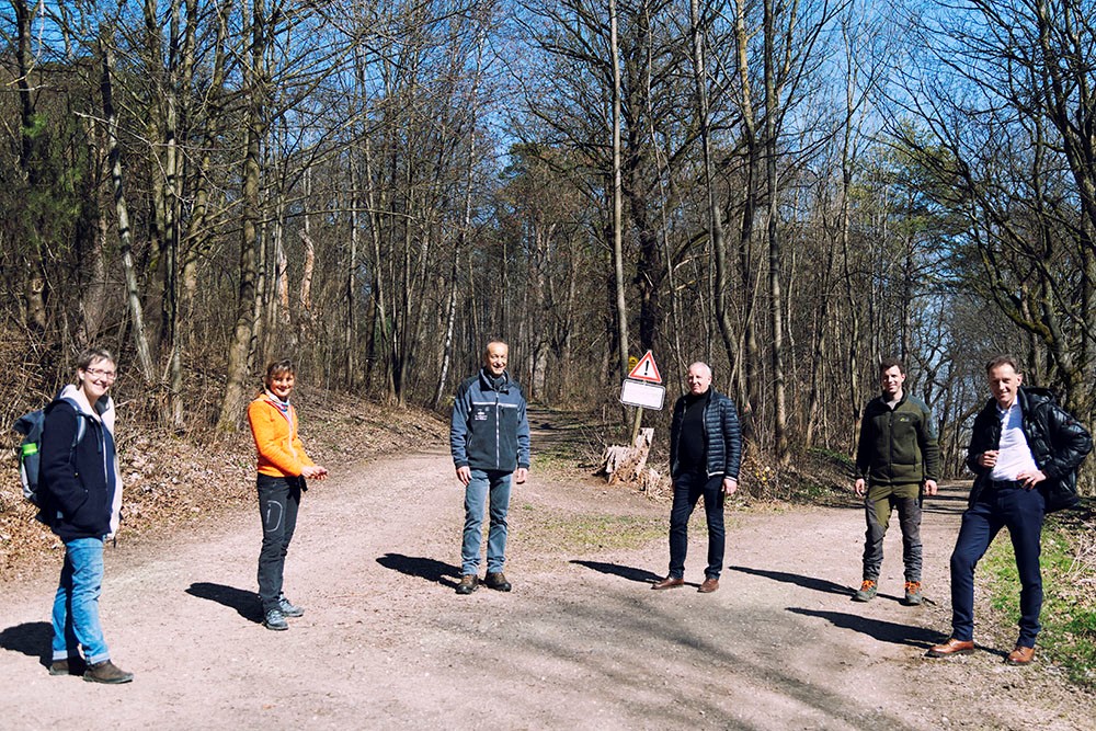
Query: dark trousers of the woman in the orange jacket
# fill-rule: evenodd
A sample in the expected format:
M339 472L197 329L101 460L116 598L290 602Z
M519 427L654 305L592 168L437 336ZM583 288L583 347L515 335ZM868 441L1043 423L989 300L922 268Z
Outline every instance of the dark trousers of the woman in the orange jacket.
M260 475L259 512L263 518L263 547L259 551L259 601L263 612L276 609L282 595L285 555L297 527L300 506L301 477Z

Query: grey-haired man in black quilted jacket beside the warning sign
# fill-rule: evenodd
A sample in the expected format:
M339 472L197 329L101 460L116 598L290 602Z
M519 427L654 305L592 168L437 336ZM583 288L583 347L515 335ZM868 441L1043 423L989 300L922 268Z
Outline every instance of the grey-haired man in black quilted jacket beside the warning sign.
M719 589L723 568L723 498L739 488L742 433L734 402L711 388L711 368L694 363L688 368L689 392L677 399L670 424L670 477L674 502L670 510L670 574L651 589L685 585L688 518L704 496L708 521L708 568L701 594Z

